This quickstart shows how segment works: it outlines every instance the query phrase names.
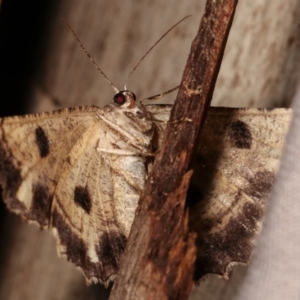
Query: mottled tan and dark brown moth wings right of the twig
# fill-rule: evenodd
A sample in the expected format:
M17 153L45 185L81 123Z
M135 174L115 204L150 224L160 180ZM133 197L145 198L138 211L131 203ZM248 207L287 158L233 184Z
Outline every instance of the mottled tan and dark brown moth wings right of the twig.
M150 107L167 121L169 107ZM190 230L198 234L195 279L228 277L247 263L260 229L291 110L210 108L188 192ZM159 136L165 123L158 122Z

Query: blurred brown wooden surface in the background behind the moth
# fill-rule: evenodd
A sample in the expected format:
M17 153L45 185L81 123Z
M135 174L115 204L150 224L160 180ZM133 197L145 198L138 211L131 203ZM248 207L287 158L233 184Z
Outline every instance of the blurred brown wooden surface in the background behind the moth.
M5 75L0 96L1 106L11 104L9 114L19 113L21 107L33 112L110 102L113 90L82 53L62 17L121 88L133 65L161 34L193 14L152 51L129 81L129 89L144 98L179 83L204 8L204 1L195 0L49 2L43 2L51 8L47 11L34 1L27 7L17 1L10 10L2 2L1 34L3 38L6 32L6 42L0 44ZM240 1L213 104L273 107L290 103L300 68L299 20L297 0ZM4 107L0 113L5 114ZM86 287L80 272L57 258L49 234L25 225L3 207L1 211L1 299L101 299L101 286ZM229 282L207 279L195 288L191 299L232 299L245 272L236 268Z

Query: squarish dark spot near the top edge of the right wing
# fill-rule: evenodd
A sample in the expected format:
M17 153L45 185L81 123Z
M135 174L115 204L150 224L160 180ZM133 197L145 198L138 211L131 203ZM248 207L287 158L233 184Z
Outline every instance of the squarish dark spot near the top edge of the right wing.
M233 121L229 129L230 141L233 147L239 149L250 149L252 135L249 126L239 120Z

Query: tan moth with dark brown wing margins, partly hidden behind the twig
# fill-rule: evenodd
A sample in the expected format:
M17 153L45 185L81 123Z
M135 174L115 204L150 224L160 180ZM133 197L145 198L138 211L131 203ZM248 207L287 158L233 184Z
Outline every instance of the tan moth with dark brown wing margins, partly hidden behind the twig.
M117 274L171 110L137 105L126 84L115 91L103 109L0 119L7 208L52 231L58 253L88 282L105 285ZM290 119L285 109L210 108L187 197L189 226L198 234L195 279L227 277L232 263L248 261Z

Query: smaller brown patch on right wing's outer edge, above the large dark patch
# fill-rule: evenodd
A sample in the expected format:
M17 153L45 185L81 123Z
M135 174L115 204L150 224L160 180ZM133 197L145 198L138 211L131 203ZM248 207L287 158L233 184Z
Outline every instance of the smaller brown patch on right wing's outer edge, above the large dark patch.
M266 201L273 187L274 179L273 172L257 172L253 177L248 178L248 184L244 192L250 197Z

